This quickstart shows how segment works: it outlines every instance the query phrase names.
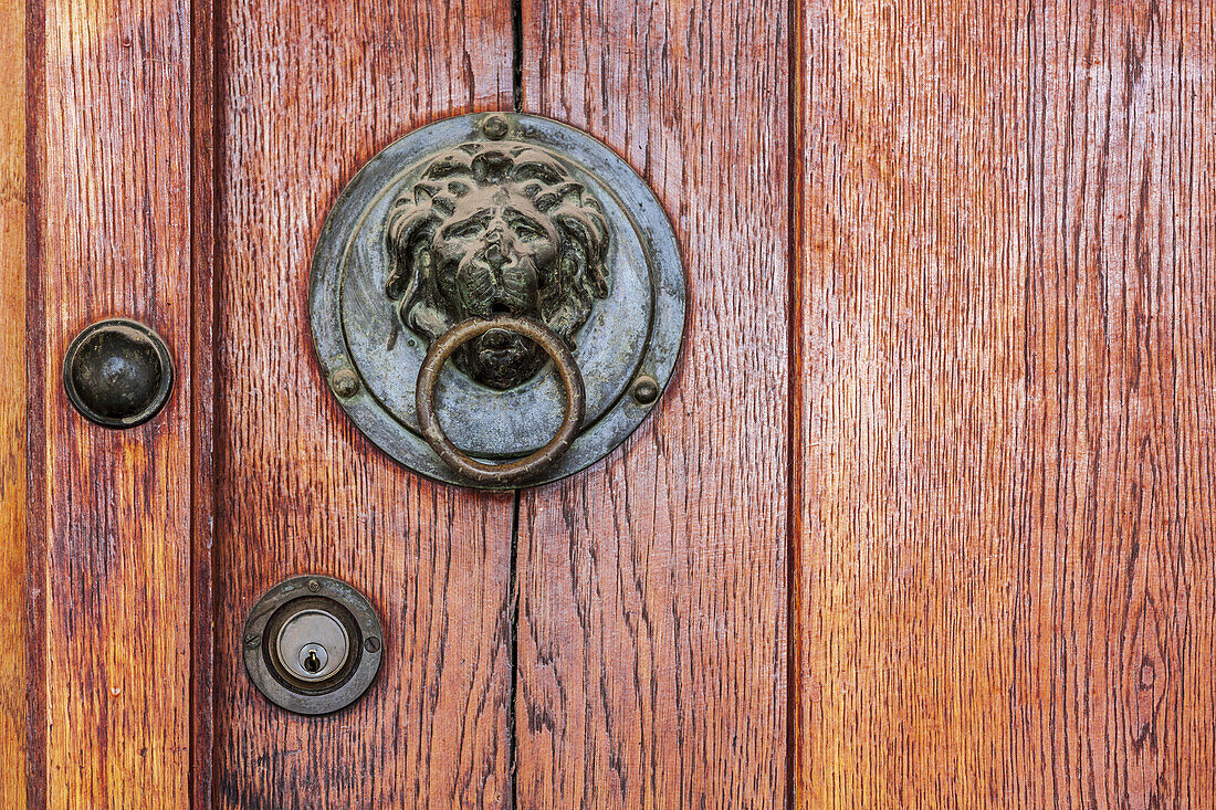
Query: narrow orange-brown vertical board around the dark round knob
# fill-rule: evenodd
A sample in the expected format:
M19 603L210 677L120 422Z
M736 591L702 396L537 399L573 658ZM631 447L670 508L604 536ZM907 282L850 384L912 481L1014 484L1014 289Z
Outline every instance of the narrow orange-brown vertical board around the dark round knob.
M29 794L35 806L181 806L192 657L190 4L45 0L29 21ZM167 409L129 431L85 422L61 383L68 342L113 315L151 325L178 360Z

